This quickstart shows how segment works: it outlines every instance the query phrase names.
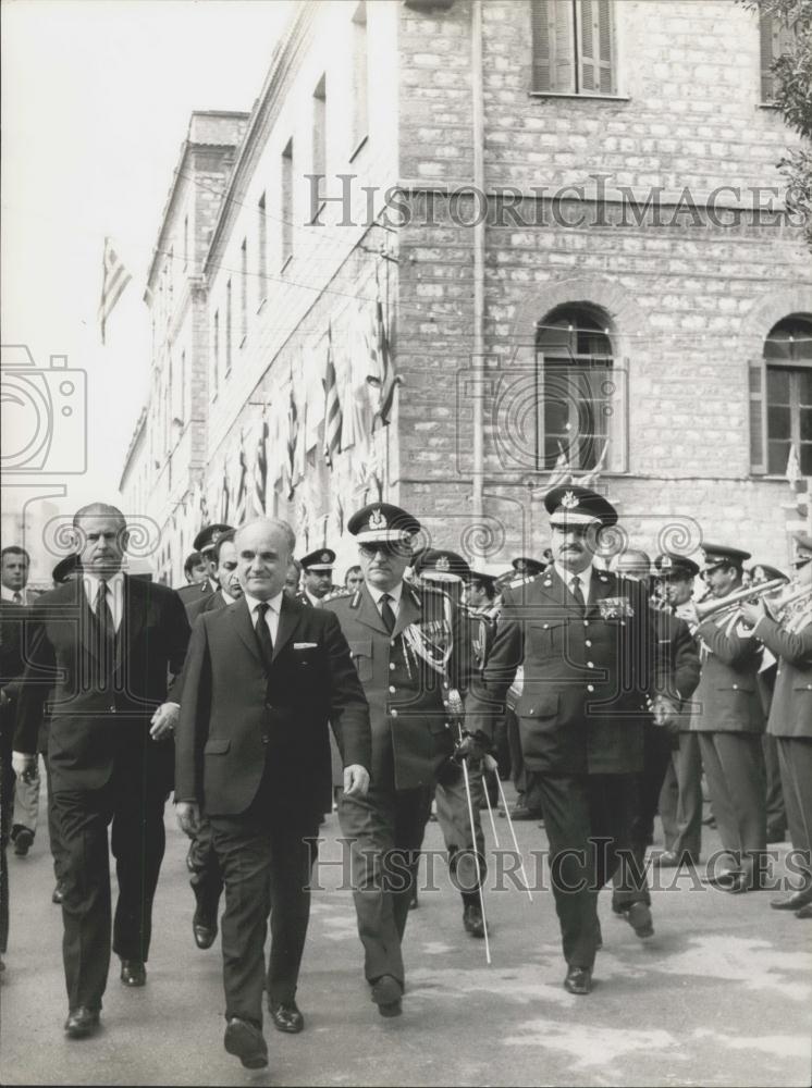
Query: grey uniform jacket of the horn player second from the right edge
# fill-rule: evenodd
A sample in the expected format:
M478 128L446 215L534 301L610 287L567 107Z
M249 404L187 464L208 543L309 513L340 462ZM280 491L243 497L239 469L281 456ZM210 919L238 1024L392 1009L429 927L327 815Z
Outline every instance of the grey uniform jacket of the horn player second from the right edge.
M697 628L704 643L702 676L696 692L696 732L761 733L764 707L758 676L762 650L730 617L710 617Z

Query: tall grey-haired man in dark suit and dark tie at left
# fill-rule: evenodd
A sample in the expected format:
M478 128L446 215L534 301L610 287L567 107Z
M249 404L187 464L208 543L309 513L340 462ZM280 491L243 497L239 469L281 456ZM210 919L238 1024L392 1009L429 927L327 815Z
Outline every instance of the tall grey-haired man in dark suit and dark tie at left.
M110 824L119 881L112 947L122 982L146 980L177 715L167 680L183 667L189 628L173 590L122 571L128 533L120 510L94 503L73 524L82 578L46 593L33 609L14 766L23 775L36 759L48 700L65 1030L82 1038L98 1027L110 963Z

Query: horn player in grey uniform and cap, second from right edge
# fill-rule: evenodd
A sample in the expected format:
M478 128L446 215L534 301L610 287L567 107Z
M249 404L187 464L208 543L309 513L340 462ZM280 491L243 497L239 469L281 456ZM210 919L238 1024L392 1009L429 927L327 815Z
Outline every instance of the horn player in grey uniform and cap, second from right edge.
M749 552L704 543L702 554L701 574L712 597L722 599L742 589ZM762 647L736 609L709 616L694 633L703 660L691 728L699 733L713 814L727 854L713 877L725 891L743 892L761 886L766 850L764 708L758 684Z

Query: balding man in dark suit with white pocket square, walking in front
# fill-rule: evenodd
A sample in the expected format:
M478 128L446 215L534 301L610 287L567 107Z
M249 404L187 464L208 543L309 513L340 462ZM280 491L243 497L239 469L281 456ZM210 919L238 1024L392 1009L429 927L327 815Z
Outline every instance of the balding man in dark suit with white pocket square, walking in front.
M205 808L225 881L225 1049L261 1068L268 915L271 1016L283 1030L299 1030L308 886L331 804L328 721L344 758L344 789L360 795L369 784L369 710L335 617L283 594L291 527L255 521L237 531L235 545L243 599L202 613L192 636L175 801L186 833Z

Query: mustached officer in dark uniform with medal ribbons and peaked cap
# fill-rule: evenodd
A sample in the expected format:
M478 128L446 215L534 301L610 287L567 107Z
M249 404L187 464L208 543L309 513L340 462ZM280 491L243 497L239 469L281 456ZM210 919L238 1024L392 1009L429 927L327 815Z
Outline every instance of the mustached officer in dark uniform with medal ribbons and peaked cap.
M541 800L550 841L564 986L586 994L601 943L598 892L629 857L654 633L644 586L592 566L601 528L617 521L614 507L576 486L553 489L544 502L554 564L503 591L493 646L473 681L469 729L492 735L524 665L516 716L528 788ZM648 889L628 864L618 904L639 936L652 931Z

